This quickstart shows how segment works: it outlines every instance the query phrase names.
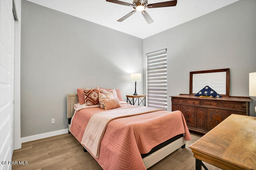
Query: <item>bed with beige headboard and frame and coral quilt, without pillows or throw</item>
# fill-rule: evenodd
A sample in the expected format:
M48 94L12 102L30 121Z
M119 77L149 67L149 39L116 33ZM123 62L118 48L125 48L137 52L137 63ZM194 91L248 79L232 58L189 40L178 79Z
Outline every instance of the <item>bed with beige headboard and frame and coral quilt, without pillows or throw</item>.
M90 117L99 113L102 109L99 107L88 108L75 113L74 104L76 103L78 103L77 94L68 94L68 130L81 143ZM121 107L125 109L126 107L131 107L131 105L121 104ZM164 120L170 116L174 117L174 120L168 125ZM154 123L157 122L157 119L158 122L162 120L161 126L159 123ZM165 125L167 126L165 127ZM166 133L164 132L165 129L160 128L172 128L175 130ZM148 133L148 131L155 131L156 129L160 129L160 131ZM111 121L102 137L99 156L95 157L91 152L90 154L103 169L146 169L176 149L185 148L186 141L190 139L186 122L180 111L172 114L167 111L154 111ZM83 145L83 147L84 151L86 151L86 146Z

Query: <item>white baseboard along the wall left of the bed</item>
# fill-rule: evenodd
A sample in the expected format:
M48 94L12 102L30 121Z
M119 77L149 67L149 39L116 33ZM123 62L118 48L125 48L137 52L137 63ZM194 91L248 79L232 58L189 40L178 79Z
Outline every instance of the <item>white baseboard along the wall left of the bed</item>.
M58 131L52 131L52 132L41 133L41 134L38 134L38 135L32 135L32 136L28 136L28 137L22 137L20 139L20 141L21 141L21 143L24 143L24 142L29 142L29 141L35 141L35 140L38 140L38 139L43 139L43 138L46 138L46 137L62 135L64 133L68 133L68 129L62 129L62 130L58 130Z

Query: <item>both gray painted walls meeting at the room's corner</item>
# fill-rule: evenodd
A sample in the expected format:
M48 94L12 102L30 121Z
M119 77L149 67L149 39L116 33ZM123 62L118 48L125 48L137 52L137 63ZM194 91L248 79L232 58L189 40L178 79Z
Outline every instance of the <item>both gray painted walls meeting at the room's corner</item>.
M256 71L255 8L255 0L240 0L142 42L22 0L21 137L66 129L66 94L77 88L120 88L124 98L132 94L130 73L143 73L142 56L164 48L168 96L189 92L190 71L218 68L230 68L231 96L248 96L248 73ZM253 99L250 115L256 116Z

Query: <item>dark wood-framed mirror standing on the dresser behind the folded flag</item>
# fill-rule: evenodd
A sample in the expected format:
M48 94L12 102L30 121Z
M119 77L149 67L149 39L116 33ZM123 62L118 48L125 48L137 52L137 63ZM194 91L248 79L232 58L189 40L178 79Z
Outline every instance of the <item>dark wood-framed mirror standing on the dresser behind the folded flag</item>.
M229 68L190 72L190 95L195 95L205 86L210 86L222 97L229 98Z

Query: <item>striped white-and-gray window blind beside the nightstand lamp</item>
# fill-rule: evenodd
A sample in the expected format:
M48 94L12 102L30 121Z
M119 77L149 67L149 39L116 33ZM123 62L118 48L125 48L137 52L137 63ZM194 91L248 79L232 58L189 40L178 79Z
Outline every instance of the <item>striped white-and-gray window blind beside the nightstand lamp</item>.
M146 54L148 107L167 110L166 49Z

